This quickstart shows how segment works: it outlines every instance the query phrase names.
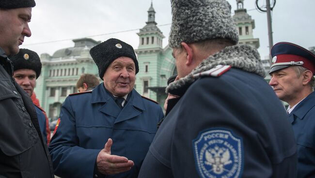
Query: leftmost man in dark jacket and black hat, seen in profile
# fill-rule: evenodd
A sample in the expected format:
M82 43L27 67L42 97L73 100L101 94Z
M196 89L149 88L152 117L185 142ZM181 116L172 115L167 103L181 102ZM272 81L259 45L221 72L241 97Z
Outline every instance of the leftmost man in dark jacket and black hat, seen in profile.
M53 169L30 96L12 77L7 55L18 53L34 0L0 0L0 177L53 178Z

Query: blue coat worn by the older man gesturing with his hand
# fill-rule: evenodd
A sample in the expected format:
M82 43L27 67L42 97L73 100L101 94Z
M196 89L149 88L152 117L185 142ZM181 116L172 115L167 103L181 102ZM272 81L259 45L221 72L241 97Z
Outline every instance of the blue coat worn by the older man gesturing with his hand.
M66 98L49 145L57 176L92 178L97 155L112 138L111 154L125 156L135 165L130 171L106 178L137 178L163 112L136 90L129 95L122 110L104 84Z

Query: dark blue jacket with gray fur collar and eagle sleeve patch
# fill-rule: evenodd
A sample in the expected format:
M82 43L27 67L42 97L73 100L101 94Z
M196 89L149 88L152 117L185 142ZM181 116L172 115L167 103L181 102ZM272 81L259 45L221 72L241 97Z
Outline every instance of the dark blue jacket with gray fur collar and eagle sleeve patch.
M232 68L199 75L218 64ZM167 91L180 98L175 105L169 101L173 109L157 131L139 178L295 178L294 134L263 75L256 50L235 45L171 83Z

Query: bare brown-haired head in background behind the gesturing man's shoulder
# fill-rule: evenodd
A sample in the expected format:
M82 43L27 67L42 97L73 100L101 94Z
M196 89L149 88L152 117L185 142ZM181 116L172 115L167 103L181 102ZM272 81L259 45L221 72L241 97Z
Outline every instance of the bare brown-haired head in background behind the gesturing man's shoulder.
M94 74L82 74L77 81L77 89L79 92L94 89L99 84L99 80Z

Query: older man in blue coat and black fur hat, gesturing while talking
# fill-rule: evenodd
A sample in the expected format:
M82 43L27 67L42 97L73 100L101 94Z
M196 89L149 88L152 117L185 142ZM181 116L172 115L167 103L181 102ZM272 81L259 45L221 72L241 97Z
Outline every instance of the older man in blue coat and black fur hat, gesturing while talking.
M55 174L137 178L162 108L133 89L139 65L131 45L109 39L90 54L104 83L63 103L49 145Z

